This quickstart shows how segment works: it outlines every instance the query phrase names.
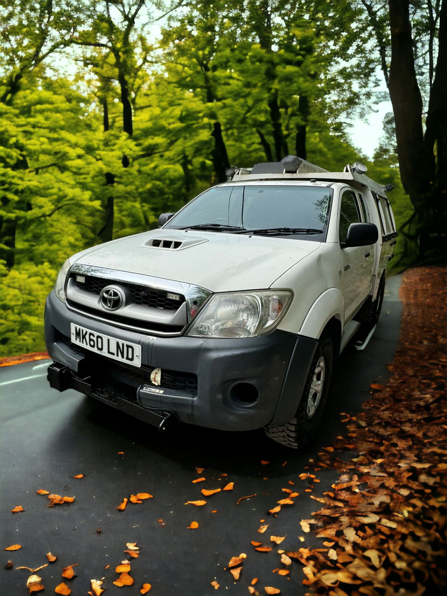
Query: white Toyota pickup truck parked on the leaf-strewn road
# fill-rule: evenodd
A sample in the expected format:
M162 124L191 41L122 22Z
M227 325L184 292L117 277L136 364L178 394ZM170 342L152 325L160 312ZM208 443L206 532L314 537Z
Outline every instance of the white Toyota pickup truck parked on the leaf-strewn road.
M396 243L392 187L365 171L233 168L161 229L67 259L46 302L51 386L160 430L263 427L304 445L337 356L377 322Z

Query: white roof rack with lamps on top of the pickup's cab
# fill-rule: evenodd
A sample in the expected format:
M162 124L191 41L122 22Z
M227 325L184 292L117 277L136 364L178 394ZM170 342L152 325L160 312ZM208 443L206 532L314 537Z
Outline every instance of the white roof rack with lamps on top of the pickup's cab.
M227 179L233 182L254 182L266 180L315 180L328 182L347 182L356 187L369 188L380 197L387 198L385 191L393 190L392 184L385 187L365 176L367 167L356 162L347 164L343 172L328 172L322 167L307 162L300 157L289 155L281 162L257 163L252 168L231 167L226 170Z

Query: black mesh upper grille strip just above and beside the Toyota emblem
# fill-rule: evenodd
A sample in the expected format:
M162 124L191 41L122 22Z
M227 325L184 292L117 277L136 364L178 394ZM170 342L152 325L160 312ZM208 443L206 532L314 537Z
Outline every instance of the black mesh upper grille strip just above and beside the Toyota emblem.
M129 284L123 281L105 280L102 277L94 277L92 275L83 275L85 278L84 283L77 281L76 274L73 274L75 283L79 290L84 290L90 294L100 295L101 290L106 285L117 283L122 287L128 288L134 299L134 303L140 306L148 306L150 308L160 308L164 311L176 311L185 302L185 297L179 294L179 300L173 300L168 298L168 292L164 290L155 290L154 288L147 288L144 285Z

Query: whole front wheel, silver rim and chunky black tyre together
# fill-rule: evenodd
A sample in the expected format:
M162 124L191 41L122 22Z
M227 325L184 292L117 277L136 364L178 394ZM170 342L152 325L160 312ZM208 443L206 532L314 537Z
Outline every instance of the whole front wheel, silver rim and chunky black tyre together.
M268 437L292 449L303 447L312 440L326 405L333 362L334 342L330 333L324 332L315 350L294 418L285 424L265 426Z

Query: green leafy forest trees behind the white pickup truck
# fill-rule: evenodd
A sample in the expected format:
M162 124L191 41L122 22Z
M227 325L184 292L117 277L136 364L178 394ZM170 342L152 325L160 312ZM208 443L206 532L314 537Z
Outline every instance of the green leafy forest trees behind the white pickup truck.
M436 175L424 190L408 164L427 142L439 162L427 120L439 0L0 0L0 18L0 356L45 348L45 297L67 257L155 228L230 165L362 161L395 187L392 266L430 256ZM389 98L380 79L395 117L368 160L349 123Z

